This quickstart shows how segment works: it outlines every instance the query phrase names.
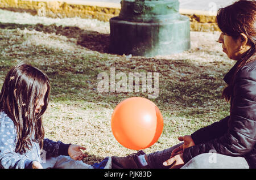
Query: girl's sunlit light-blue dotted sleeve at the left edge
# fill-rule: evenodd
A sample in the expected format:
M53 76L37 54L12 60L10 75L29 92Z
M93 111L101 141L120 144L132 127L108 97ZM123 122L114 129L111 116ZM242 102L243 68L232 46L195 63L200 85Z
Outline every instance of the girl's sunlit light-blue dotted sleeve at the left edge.
M4 113L0 113L0 168L29 168L31 160L15 152L16 130L13 121Z

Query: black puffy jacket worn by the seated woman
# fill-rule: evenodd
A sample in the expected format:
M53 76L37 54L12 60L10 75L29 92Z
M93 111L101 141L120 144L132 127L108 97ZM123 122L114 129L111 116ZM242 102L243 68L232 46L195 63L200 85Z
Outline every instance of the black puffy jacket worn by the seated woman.
M185 163L213 150L222 155L245 157L250 168L256 168L256 58L253 58L255 61L247 63L235 76L230 115L191 135L196 145L184 149ZM225 75L228 84L234 67Z

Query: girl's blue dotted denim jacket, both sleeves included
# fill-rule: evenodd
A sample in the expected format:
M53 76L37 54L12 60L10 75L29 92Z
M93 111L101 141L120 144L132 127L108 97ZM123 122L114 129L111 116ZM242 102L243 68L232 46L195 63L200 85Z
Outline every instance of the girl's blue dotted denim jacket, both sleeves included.
M0 169L32 168L32 161L44 163L49 157L68 156L69 145L44 139L43 149L40 149L38 142L32 141L32 147L26 153L17 153L14 123L7 114L0 112Z

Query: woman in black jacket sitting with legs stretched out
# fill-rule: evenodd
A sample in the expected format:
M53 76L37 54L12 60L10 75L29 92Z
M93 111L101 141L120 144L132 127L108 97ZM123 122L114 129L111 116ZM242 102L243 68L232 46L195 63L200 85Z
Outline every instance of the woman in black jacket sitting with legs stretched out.
M256 2L241 0L218 10L218 42L236 65L225 75L222 92L230 115L184 143L145 155L112 157L113 168L256 168Z

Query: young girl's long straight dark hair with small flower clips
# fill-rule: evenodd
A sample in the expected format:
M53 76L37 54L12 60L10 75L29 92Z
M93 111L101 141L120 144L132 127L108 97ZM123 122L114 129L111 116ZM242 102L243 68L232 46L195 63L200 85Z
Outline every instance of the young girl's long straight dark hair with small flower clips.
M14 122L17 138L15 152L25 153L31 148L31 140L43 147L42 116L47 109L50 88L46 74L24 63L11 68L6 75L0 93L0 111L4 111ZM44 105L39 113L35 113L42 98Z

